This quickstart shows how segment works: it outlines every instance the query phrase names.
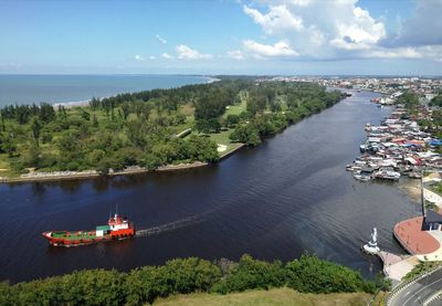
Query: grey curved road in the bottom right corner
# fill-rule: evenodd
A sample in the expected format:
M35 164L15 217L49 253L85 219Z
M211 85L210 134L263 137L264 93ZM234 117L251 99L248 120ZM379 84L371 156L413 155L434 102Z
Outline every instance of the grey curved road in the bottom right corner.
M423 305L436 292L442 289L442 268L427 275L419 279L417 283L401 291L389 303L390 306L411 306ZM441 305L442 299L436 299L429 304Z

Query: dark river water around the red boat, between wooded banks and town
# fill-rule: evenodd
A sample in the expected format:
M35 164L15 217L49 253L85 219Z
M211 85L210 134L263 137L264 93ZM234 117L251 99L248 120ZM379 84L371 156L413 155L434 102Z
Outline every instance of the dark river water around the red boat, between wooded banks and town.
M282 261L303 252L358 268L370 277L380 263L359 252L378 228L381 249L402 252L396 222L419 205L394 183L355 181L345 170L358 156L366 123L391 112L354 93L256 148L206 168L78 181L1 184L0 279L19 282L80 268L128 271L173 257L238 260L249 253ZM109 210L138 229L175 221L182 228L124 242L51 247L48 230L87 230Z

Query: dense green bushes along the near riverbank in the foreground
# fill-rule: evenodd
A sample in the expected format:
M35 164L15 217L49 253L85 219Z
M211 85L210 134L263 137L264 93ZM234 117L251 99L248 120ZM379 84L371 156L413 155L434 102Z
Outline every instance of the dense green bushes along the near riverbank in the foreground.
M239 263L210 263L197 257L162 266L80 271L64 276L9 285L0 283L1 305L143 305L158 297L193 292L228 294L287 286L301 293L373 293L388 289L378 276L365 281L359 272L304 254L283 264L243 255Z

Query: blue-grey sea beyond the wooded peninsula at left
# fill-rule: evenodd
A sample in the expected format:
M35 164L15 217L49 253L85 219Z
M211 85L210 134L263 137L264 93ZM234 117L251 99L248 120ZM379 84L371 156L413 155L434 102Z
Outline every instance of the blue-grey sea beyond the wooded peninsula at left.
M0 107L11 104L76 105L93 97L210 83L180 74L0 74Z

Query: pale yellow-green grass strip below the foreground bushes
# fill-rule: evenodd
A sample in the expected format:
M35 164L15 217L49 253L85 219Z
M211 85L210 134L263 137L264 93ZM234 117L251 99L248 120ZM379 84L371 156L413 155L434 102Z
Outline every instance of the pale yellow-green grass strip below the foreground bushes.
M175 295L157 299L154 305L189 305L189 306L218 306L218 305L367 305L371 295L366 293L338 293L338 294L303 294L291 288L274 288L270 291L250 291L227 295L217 294L189 294Z

